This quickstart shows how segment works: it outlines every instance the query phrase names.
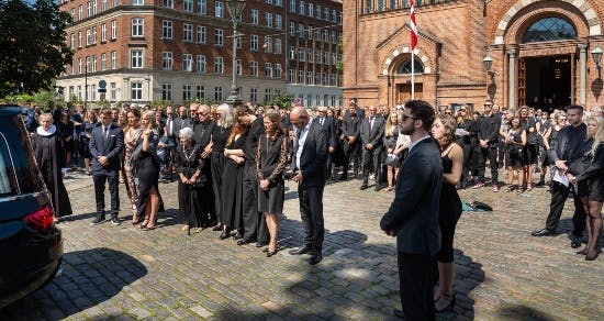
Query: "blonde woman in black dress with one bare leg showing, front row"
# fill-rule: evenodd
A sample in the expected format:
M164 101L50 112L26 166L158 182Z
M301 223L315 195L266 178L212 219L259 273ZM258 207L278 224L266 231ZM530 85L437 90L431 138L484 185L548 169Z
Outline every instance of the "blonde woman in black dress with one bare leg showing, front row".
M136 178L138 180L138 202L136 211L138 217L145 215L145 220L141 224L144 231L155 229L157 222L157 212L164 211L164 202L159 195L159 159L157 158L157 143L159 134L155 130L154 124L155 113L147 111L141 115L141 128L144 129L138 144L141 152L137 148L132 154L136 168Z

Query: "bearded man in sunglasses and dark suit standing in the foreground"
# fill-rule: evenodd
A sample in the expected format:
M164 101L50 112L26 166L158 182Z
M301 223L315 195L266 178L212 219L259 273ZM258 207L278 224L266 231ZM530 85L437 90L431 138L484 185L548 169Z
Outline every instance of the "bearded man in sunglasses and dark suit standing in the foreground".
M435 320L433 259L440 248L438 203L443 185L443 160L429 136L435 113L429 103L411 100L402 114L401 132L411 146L399 177L394 200L380 228L396 235L399 279L405 320Z

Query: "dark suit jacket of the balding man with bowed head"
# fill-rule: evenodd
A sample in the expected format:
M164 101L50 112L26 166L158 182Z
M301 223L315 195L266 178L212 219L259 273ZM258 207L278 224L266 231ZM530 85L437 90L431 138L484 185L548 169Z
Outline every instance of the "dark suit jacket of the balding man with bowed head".
M317 121L313 121L304 145L298 147L303 148L299 168L302 171L301 185L303 187L325 185L325 163L327 162L327 141L325 139L323 126ZM295 164L295 154L292 155L292 162Z

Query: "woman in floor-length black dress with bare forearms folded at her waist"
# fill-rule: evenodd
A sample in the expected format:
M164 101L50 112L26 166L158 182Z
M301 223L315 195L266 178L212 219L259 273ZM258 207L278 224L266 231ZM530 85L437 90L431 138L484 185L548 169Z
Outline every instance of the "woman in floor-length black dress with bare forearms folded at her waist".
M222 204L223 231L220 236L224 240L231 235L232 230L243 235L243 167L245 163L243 147L249 128L241 122L233 123L231 134L224 147L226 164L222 175Z

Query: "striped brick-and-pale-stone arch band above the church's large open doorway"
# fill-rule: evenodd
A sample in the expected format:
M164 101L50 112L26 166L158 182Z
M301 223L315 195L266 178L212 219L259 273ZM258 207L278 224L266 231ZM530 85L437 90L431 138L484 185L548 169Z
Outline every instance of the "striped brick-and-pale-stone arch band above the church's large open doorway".
M495 31L495 45L501 45L505 43L505 35L506 30L510 27L511 23L513 23L513 20L515 15L521 12L526 7L532 5L533 3L537 3L540 0L519 0L505 12L503 18L501 19L500 23L497 24L497 29ZM581 12L583 15L582 18L588 22L588 35L600 35L602 33L602 25L600 23L600 20L597 19L597 14L595 10L588 3L586 0L560 0L561 2L566 2L569 5L574 7L575 10ZM579 25L575 25L575 27L579 31Z

